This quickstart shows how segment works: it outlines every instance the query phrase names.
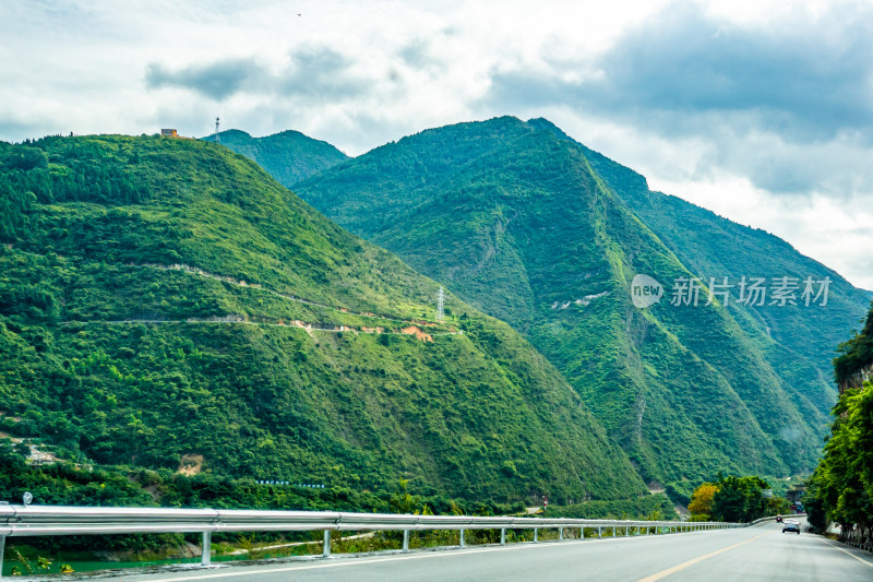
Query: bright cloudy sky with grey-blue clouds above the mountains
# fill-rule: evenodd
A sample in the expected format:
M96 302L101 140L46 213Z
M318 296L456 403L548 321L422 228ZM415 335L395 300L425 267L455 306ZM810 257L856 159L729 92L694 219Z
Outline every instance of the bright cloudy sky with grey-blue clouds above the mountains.
M873 0L0 0L0 140L546 117L873 289Z

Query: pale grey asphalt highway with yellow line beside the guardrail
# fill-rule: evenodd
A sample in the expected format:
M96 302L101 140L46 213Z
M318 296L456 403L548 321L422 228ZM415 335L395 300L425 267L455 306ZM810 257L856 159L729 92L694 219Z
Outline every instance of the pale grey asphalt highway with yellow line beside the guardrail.
M805 524L804 524L805 525ZM781 524L626 538L276 561L116 578L128 582L355 580L598 582L873 580L873 556Z

